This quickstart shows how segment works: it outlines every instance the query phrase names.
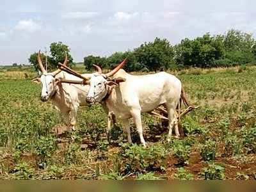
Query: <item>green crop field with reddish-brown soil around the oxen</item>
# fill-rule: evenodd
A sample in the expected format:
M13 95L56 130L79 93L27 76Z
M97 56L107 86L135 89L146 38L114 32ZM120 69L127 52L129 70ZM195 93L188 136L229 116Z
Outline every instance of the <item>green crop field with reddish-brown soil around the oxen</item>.
M119 124L108 143L100 105L79 108L68 134L58 111L40 100L32 70L0 70L0 179L256 179L256 68L170 73L200 108L182 120L186 136L170 142L166 127L143 115L143 148L134 125L135 144Z

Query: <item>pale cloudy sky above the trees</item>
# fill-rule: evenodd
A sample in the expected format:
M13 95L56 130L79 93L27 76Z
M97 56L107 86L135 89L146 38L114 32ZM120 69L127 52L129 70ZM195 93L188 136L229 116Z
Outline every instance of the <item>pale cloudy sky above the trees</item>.
M132 50L154 38L183 38L238 29L256 35L252 0L1 0L0 65L28 63L52 42L74 61Z

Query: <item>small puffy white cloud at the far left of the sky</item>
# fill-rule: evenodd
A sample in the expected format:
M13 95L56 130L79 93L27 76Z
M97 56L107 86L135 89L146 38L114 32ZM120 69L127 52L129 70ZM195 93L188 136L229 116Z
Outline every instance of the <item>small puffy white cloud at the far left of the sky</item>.
M17 25L15 26L15 29L19 31L26 31L29 33L33 33L35 31L38 31L42 27L40 24L37 24L34 20L28 19L28 20L20 20Z

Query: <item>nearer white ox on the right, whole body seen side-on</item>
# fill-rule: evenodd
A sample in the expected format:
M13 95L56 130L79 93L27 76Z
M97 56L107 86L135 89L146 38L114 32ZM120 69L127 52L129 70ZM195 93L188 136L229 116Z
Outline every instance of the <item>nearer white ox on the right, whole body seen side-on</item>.
M175 112L180 97L183 101L186 96L182 91L182 84L177 77L166 72L145 76L132 76L123 69L125 60L112 72L102 74L101 70L90 77L90 89L86 101L90 103L101 102L109 112L115 113L118 120L124 125L127 140L132 143L129 118L133 118L141 143L145 146L141 113L156 109L165 104L168 111L169 136L175 127L175 134L179 134L177 113ZM108 77L122 77L116 83L109 81ZM117 86L119 84L119 86ZM186 102L186 101L184 101ZM188 103L188 102L186 102Z

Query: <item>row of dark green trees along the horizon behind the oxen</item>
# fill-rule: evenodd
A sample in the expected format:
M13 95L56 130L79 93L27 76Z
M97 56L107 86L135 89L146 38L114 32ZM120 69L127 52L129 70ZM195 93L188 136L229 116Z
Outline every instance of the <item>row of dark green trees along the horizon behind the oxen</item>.
M171 45L166 38L155 38L153 42L145 42L132 51L115 52L108 57L85 56L84 66L86 70L93 70L93 64L102 68L113 68L124 58L128 59L124 69L129 72L255 64L255 42L252 34L235 29L227 31L224 35L206 33L194 39L185 38L177 45ZM61 42L51 45L52 57L49 57L49 62L53 68L57 66L58 61L64 60L63 51L69 52L67 45ZM34 57L29 58L33 65L36 62ZM72 63L70 54L68 57Z

